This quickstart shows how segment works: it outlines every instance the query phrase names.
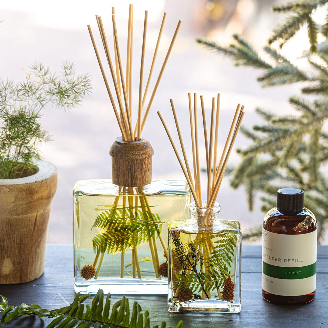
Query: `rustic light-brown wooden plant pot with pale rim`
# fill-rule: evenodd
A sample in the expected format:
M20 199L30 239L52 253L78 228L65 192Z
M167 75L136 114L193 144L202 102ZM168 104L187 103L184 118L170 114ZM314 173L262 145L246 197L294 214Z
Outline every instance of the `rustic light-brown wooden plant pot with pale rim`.
M45 161L36 165L39 170L33 175L0 179L0 284L43 274L57 169Z

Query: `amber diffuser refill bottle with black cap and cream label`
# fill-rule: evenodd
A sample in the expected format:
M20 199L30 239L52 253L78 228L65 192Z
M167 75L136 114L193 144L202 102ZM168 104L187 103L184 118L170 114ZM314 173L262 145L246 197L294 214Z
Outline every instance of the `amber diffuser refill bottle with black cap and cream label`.
M278 190L264 217L262 296L277 304L311 302L316 293L317 222L301 189Z

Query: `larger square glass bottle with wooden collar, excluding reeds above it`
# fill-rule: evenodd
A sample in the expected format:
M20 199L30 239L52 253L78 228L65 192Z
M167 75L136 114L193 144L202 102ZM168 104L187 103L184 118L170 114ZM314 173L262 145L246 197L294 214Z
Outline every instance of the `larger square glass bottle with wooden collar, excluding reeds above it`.
M189 216L185 181L152 180L150 142L113 143L112 179L73 190L74 289L95 294L167 293L170 220Z

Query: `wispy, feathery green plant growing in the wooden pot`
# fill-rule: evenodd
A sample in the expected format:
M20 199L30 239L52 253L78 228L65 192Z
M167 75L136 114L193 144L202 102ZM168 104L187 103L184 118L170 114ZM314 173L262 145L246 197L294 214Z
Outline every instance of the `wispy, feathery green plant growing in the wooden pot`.
M0 79L0 179L19 177L41 158L39 146L51 140L40 125L41 110L52 104L70 110L91 90L88 74L75 76L72 63L61 75L34 63L22 82Z

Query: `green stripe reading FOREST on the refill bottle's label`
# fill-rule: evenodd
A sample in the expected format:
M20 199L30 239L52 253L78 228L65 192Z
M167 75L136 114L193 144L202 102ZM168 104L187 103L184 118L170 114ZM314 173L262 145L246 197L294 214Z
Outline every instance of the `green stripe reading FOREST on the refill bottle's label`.
M273 278L279 279L303 279L312 277L317 272L317 261L303 267L278 267L263 261L262 272Z

